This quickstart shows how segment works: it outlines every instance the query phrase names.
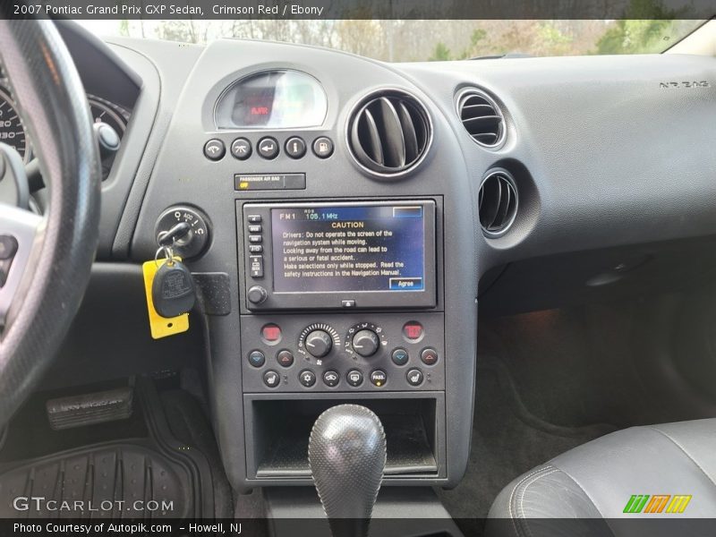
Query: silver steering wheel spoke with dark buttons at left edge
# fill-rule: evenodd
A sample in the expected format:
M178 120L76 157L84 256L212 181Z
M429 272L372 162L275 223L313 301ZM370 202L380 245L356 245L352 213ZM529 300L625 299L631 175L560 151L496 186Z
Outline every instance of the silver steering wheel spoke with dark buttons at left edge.
M35 245L45 219L10 205L0 207L0 328L4 327L15 295L34 270Z

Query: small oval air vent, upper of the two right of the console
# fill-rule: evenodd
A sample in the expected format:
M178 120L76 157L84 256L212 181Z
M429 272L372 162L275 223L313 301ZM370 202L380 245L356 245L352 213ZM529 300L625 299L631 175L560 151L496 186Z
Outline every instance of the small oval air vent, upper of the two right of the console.
M497 148L505 141L505 117L487 93L474 88L457 98L457 115L474 141L485 148Z

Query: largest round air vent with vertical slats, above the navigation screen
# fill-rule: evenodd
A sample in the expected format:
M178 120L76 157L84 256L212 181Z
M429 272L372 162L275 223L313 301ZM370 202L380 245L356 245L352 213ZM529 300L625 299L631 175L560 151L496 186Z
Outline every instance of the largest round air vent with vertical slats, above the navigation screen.
M362 100L348 123L348 147L374 175L396 177L418 166L430 148L430 116L400 90L381 90Z

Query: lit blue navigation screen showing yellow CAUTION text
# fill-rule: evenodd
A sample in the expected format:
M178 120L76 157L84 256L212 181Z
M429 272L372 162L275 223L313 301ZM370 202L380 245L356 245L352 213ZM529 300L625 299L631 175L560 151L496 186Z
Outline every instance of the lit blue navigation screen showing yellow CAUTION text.
M422 205L271 209L274 291L422 291Z

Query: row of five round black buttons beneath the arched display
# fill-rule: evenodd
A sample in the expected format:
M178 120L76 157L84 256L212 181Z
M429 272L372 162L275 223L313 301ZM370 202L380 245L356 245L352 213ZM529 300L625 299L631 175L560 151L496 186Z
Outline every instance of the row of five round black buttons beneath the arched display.
M300 136L292 136L286 140L284 150L290 158L303 158L307 149L306 142ZM313 141L313 154L318 158L328 158L333 155L333 141L328 136L320 136ZM253 154L251 141L246 138L236 138L231 142L231 154L238 160L246 160ZM256 144L256 152L266 160L277 158L281 152L280 144L272 136L264 136ZM209 160L218 161L226 155L226 144L218 138L212 138L204 144L204 156Z

